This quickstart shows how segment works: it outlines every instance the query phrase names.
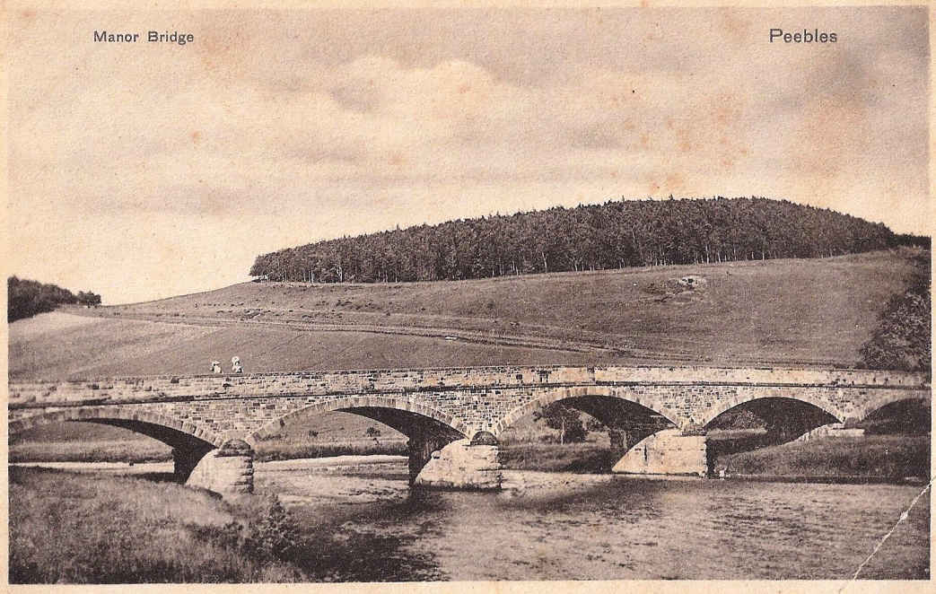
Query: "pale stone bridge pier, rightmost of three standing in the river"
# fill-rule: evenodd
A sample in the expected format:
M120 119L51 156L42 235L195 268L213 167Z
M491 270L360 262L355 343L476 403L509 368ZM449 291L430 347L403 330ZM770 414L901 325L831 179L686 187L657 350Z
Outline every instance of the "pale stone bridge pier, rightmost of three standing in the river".
M664 429L632 447L611 469L631 474L709 473L706 436L684 435L680 429Z

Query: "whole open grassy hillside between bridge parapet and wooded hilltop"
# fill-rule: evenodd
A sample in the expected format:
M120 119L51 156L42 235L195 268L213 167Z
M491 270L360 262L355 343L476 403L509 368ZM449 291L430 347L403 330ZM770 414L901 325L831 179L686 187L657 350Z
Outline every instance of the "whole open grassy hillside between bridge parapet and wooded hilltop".
M10 325L12 378L513 364L854 365L910 251L405 284L242 283ZM705 280L685 290L678 280ZM51 321L50 321L51 319ZM447 337L447 339L446 339ZM226 363L227 365L227 363Z

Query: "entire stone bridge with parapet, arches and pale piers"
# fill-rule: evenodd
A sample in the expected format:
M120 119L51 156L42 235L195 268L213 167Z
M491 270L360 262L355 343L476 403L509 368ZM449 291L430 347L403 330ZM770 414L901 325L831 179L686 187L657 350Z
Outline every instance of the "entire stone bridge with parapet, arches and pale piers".
M616 469L704 474L706 429L729 409L780 402L784 411L795 413L791 417L811 419L797 427L805 432L828 423L856 422L901 400L929 398L925 375L881 370L610 366L301 371L11 381L8 428L10 435L63 421L128 428L173 448L179 480L231 492L252 489L258 440L285 424L342 411L405 434L411 478L417 484L496 488L498 436L519 418L557 400L604 423L622 452L633 448ZM642 448L635 448L639 443Z

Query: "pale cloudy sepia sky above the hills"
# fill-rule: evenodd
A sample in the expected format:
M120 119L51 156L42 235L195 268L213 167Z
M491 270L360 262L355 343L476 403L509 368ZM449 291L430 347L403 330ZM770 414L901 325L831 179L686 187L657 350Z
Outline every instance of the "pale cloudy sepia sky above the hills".
M622 197L932 220L924 7L18 9L9 28L7 274L107 304L319 239Z

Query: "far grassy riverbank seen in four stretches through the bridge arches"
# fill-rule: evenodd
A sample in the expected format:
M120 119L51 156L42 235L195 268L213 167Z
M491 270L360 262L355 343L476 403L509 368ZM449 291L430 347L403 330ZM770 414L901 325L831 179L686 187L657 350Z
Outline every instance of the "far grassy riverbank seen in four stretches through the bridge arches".
M750 452L719 454L717 442L709 446L713 475L777 478L836 476L866 477L875 481L903 482L907 477L929 480L929 435L866 435L816 438L789 442ZM405 456L406 444L380 442L292 443L260 442L256 461L324 458L331 456ZM168 446L153 440L12 443L9 461L23 462L166 462ZM534 441L504 442L501 463L507 470L607 473L620 459L607 440L582 443Z

